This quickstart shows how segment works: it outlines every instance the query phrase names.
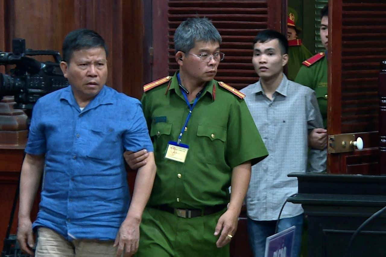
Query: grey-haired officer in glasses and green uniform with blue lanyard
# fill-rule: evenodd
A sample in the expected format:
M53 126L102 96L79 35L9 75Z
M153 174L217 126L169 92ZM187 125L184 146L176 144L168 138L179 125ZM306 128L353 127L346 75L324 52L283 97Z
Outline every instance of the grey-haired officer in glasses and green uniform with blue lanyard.
M213 79L220 43L208 19L184 21L174 34L179 71L144 86L157 173L136 256L229 256L251 165L268 153L244 95Z

